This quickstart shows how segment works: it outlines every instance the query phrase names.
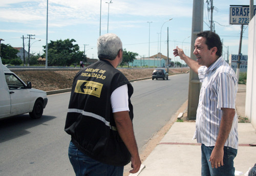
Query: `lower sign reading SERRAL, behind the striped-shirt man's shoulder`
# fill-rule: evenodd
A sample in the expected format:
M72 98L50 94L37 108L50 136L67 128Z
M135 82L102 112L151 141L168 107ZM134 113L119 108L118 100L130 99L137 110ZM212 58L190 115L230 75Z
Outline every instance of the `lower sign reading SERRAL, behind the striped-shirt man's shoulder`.
M237 54L229 55L229 65L234 70L234 72L237 72L238 56L239 55ZM240 58L240 62L240 72L247 72L247 55L242 55Z

